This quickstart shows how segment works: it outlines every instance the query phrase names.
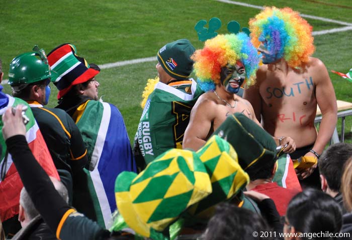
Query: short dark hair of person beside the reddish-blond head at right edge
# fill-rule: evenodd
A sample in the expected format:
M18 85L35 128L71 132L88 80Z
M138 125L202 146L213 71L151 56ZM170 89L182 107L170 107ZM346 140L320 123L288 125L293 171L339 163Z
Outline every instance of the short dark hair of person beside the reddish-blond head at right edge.
M329 146L321 154L318 161L319 172L326 178L331 190L340 191L343 166L350 156L352 156L352 144L344 142Z

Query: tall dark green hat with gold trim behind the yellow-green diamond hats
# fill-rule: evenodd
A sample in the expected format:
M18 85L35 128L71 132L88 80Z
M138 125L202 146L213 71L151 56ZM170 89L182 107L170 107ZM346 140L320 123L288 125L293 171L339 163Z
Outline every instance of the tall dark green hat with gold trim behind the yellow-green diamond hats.
M273 137L241 113L226 118L213 135L228 141L236 150L238 163L252 179L262 167L276 157Z

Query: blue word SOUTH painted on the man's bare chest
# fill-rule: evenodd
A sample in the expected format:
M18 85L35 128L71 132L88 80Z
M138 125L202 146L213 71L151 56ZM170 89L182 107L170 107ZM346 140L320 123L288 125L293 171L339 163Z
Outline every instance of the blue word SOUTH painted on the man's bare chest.
M309 77L308 79L305 79L305 81L293 83L293 86L290 88L276 88L276 87L267 87L266 89L266 98L271 99L271 98L282 98L284 96L287 97L295 97L307 89L308 91L313 91L314 90L314 84L313 84L313 79L312 77Z

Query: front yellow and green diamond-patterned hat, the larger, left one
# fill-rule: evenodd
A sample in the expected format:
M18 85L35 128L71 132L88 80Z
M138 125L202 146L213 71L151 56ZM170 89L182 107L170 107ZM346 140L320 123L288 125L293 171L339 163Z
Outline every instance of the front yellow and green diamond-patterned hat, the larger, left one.
M182 149L161 154L138 175L122 172L115 182L117 207L127 225L142 236L157 239L183 211L211 191L203 162L195 152Z

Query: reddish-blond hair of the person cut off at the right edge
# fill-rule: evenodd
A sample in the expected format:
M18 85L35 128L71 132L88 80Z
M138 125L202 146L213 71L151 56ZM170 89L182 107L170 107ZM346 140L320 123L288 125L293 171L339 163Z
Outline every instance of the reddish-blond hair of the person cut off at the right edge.
M346 210L352 210L352 157L344 165L341 179L341 192Z

